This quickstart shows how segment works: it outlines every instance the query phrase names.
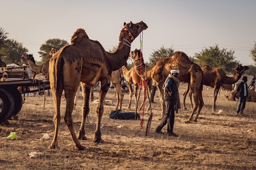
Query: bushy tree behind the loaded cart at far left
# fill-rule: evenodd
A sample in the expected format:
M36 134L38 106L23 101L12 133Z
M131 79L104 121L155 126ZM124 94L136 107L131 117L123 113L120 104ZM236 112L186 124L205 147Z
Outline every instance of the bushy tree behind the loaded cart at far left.
M14 39L7 39L5 46L1 50L1 53L3 54L2 60L6 64L16 63L21 65L24 63L21 56L26 52L28 52L28 49L23 47L21 42Z

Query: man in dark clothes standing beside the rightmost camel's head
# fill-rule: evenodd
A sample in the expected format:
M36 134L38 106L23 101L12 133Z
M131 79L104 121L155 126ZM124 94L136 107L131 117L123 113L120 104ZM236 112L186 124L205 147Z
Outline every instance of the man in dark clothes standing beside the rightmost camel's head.
M243 109L245 109L246 97L248 96L248 87L246 82L247 82L247 76L243 76L242 82L238 84L238 87L237 87L237 92L239 94L237 114L243 114Z

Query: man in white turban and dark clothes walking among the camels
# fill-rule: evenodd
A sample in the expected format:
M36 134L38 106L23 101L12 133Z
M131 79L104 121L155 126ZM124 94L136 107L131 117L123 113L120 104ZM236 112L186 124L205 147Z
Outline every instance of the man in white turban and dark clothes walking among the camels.
M164 114L164 117L162 118L162 121L158 125L158 128L156 128L155 132L163 134L161 131L163 127L167 124L167 133L169 136L178 137L177 134L174 133L174 108L177 103L179 91L179 79L177 79L177 75L179 75L179 70L171 70L171 74L166 79L166 82L164 82L164 94L165 94L165 101L166 101L166 113Z

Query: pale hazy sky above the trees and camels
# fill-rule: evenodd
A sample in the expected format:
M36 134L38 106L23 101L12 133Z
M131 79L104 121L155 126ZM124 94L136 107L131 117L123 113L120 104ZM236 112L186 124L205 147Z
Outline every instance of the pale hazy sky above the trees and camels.
M148 29L131 45L145 61L154 50L173 48L193 57L209 46L234 50L242 65L252 65L250 49L256 41L255 0L130 0L34 1L0 0L0 27L9 39L22 42L40 61L40 46L48 39L70 42L78 28L105 50L118 44L123 23L143 20Z

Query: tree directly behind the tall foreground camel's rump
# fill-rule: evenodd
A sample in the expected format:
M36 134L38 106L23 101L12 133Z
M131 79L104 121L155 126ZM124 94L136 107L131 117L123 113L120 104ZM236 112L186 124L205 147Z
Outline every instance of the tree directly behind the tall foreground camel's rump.
M42 57L42 61L45 62L48 59L50 59L49 52L51 52L51 49L57 50L61 49L63 46L68 45L68 41L66 40L60 40L60 39L49 39L44 44L40 46L40 52L39 57Z

